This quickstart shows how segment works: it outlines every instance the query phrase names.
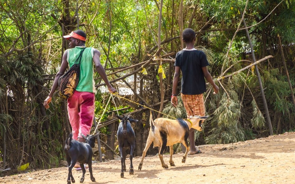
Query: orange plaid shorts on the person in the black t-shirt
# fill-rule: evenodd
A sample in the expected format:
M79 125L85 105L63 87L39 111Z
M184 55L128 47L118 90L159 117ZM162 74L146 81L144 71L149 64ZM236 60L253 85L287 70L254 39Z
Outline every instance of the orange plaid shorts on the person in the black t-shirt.
M181 99L186 110L187 118L198 115L205 116L205 104L203 94L185 95L181 93Z

